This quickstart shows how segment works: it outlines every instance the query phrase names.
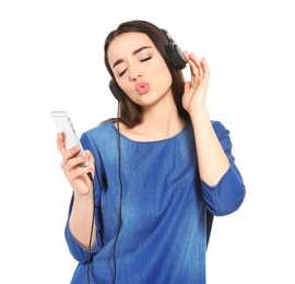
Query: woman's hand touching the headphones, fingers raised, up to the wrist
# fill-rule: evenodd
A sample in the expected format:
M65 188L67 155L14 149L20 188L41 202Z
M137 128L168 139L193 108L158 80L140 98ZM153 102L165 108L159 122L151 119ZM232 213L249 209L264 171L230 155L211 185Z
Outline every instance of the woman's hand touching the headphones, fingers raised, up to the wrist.
M191 81L185 83L182 106L191 115L200 108L205 108L205 97L210 78L210 69L204 58L199 58L185 51L185 58L190 66Z

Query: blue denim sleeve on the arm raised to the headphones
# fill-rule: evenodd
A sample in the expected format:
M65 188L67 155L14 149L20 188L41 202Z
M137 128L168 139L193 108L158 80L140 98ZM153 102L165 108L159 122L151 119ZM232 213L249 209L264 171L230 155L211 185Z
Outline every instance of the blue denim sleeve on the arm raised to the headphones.
M201 191L209 212L215 216L223 216L239 209L245 199L246 188L232 154L229 131L219 121L213 121L212 125L229 161L229 167L213 187L201 180Z

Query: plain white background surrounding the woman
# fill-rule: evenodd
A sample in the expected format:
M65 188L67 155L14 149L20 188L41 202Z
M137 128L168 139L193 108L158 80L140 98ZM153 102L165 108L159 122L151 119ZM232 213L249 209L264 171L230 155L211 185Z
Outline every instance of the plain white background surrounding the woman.
M68 110L80 134L116 116L104 39L141 19L206 58L208 108L247 187L240 210L214 221L208 283L294 284L293 11L292 0L1 1L0 283L70 282L71 189L50 111Z

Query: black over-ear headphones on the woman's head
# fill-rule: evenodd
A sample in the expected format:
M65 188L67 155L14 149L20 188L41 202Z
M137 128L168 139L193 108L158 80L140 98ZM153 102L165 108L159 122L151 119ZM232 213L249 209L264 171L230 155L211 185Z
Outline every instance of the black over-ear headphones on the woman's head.
M178 47L178 45L172 38L167 29L162 29L162 31L169 42L169 44L166 46L166 52L167 52L168 59L170 60L170 62L173 63L176 70L184 69L187 64L187 60L182 56L182 50ZM125 100L122 91L114 79L109 81L108 86L116 99L118 99L119 102Z

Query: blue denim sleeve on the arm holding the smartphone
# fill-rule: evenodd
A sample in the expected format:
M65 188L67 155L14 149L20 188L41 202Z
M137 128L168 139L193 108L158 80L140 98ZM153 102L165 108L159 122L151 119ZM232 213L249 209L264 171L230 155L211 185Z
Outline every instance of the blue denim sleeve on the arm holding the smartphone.
M96 162L94 179L93 179L94 192L95 192L95 200L94 200L95 221L94 222L96 224L96 240L95 240L94 247L91 250L91 257L92 257L102 248L102 222L101 222L102 218L99 217L101 216L99 199L101 199L101 192L102 192L102 181L101 181L102 169L101 169L101 165L97 165L97 161L99 161L98 158L96 158L96 156L98 155L97 151L95 151L94 146L92 145L91 141L88 140L85 133L83 133L83 135L81 137L81 144L85 150L90 150L92 152L92 154L95 156L95 162ZM72 235L70 230L69 221L70 221L70 216L72 212L73 202L74 202L74 194L72 194L72 198L70 201L68 221L64 228L64 237L66 237L66 241L72 257L76 261L81 263L85 263L88 260L90 251L88 249L85 249L84 247L80 245L80 242L74 238L74 236Z

